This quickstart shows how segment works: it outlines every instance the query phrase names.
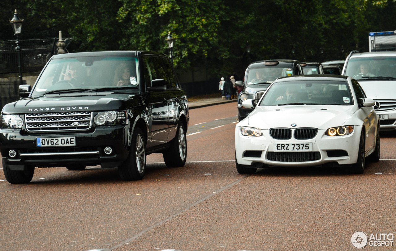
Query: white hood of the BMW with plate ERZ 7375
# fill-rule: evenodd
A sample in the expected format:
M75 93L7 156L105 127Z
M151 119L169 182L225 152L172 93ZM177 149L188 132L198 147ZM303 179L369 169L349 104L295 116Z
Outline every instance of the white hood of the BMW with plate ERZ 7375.
M327 129L344 125L355 106L262 106L249 114L251 127L268 130L270 128L314 127Z

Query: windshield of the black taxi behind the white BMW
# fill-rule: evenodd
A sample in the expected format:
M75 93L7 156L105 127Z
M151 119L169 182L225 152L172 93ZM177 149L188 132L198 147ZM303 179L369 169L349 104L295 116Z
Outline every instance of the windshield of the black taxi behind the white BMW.
M247 73L247 85L272 83L278 77L291 76L293 69L280 66L266 66L265 68L251 68Z

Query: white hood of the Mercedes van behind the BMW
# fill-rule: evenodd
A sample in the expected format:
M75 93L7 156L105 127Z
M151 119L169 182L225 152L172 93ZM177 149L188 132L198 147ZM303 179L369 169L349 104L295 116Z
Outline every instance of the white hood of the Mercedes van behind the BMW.
M367 98L376 99L395 99L396 81L358 81Z

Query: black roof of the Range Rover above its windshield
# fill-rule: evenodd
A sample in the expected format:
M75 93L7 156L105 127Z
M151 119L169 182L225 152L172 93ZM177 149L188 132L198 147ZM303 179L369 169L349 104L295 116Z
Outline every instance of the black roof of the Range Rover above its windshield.
M137 55L158 55L166 56L163 53L158 53L154 51L86 51L86 52L76 52L76 53L65 53L53 56L53 59L68 59L76 57L96 57L96 56L132 56Z

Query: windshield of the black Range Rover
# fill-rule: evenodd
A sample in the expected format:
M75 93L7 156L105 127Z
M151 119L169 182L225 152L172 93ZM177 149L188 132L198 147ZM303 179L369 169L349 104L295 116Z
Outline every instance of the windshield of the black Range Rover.
M38 79L32 96L95 90L139 92L139 83L136 57L53 59Z

